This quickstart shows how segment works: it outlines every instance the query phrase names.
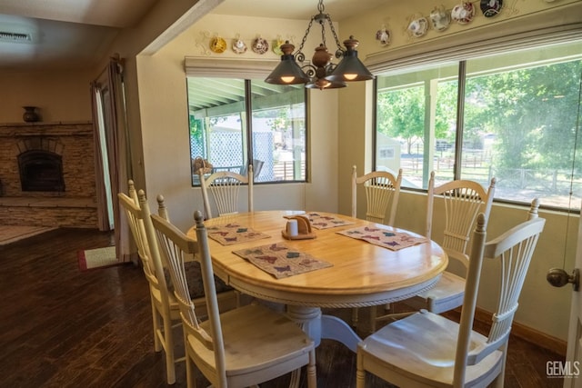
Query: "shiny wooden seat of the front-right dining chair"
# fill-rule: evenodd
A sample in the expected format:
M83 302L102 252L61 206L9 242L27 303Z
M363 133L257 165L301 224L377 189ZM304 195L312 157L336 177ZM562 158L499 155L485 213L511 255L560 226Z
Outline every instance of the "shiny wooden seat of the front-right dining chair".
M367 353L364 369L378 376L388 375L387 381L403 387L415 383L450 386L458 331L458 323L441 315L414 313L384 326L359 344L360 351ZM486 342L487 337L471 332L469 353ZM370 355L372 363L368 361ZM502 362L503 353L497 350L480 363L467 366L466 386L490 382L499 373ZM483 375L482 371L487 373Z

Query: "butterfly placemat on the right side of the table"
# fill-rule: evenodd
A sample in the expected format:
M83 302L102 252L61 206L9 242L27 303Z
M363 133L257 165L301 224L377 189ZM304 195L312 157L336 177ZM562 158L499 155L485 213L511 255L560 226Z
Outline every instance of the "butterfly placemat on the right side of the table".
M370 244L383 246L392 251L398 251L408 246L426 243L426 237L416 237L405 232L395 232L373 226L360 226L354 229L337 232L348 237L364 240Z

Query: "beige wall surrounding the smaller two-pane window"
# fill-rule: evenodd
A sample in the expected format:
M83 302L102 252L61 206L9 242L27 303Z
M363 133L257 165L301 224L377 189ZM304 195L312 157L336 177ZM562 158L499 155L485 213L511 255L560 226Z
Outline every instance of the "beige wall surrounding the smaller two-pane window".
M185 56L211 61L216 59L216 64L228 58L271 60L274 67L277 56L273 52L266 55L249 53L243 58L230 50L216 55L207 49L209 40L214 35L220 35L230 44L239 35L250 42L256 37L256 25L261 25L262 36L270 42L276 38L276 32L280 31L279 26L283 23L286 31L296 36L302 35L306 27L305 22L301 21L251 19L207 15L155 55L138 57L147 192L150 200L153 200L153 194L164 194L172 221L183 229L192 224L194 210L202 208L200 190L192 187L189 169ZM311 52L312 49L309 49L309 55ZM324 93L315 90L308 93L310 182L256 184L256 210L283 207L337 211L337 91Z

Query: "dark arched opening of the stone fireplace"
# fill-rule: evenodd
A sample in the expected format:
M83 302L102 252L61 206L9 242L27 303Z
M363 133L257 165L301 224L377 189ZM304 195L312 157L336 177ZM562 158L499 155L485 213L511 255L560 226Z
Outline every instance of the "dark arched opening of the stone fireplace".
M29 150L18 155L23 192L64 192L63 157L45 150Z

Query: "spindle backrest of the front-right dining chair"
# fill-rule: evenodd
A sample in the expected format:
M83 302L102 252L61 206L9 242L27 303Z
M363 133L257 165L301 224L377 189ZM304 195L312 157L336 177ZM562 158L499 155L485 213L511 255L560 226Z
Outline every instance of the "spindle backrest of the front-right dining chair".
M484 244L485 216L484 214L478 216L458 334L454 380L457 383L464 382L467 365L479 363L488 354L507 344L527 269L536 249L539 234L542 233L546 224L545 219L537 217L538 205L539 202L535 199L527 214L526 222L509 229L487 244ZM492 315L492 325L487 336L487 343L469 351L470 333L475 316L477 290L484 258L500 262L497 309ZM458 385L460 386L460 383Z

